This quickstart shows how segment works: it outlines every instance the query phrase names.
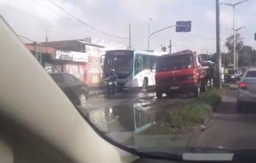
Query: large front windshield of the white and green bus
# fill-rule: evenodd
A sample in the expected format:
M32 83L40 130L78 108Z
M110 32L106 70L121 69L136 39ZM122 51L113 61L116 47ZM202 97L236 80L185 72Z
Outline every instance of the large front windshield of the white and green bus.
M113 68L118 78L127 78L133 70L133 51L107 51L104 67L107 75Z

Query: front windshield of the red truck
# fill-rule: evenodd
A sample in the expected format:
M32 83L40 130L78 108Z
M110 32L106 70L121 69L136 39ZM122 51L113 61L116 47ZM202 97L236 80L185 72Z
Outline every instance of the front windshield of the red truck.
M157 60L156 71L176 70L194 66L191 54L161 57Z

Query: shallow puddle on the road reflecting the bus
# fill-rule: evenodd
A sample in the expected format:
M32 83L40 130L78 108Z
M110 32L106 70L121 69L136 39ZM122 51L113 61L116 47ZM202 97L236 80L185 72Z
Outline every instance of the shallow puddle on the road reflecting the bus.
M99 129L112 131L139 131L155 122L155 111L148 102L108 105L90 109L87 116Z

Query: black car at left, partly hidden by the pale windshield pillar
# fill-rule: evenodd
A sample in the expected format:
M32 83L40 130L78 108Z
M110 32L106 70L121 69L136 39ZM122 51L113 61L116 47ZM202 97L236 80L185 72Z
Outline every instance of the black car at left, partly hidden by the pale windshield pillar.
M68 73L50 73L50 76L73 104L85 105L89 98L89 89L85 82Z

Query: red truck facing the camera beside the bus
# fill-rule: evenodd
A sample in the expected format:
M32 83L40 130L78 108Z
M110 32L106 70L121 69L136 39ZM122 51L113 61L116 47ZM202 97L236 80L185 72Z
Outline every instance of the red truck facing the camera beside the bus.
M199 97L201 91L207 91L206 70L199 56L190 50L158 57L155 81L157 98L162 98L163 93L193 93Z

